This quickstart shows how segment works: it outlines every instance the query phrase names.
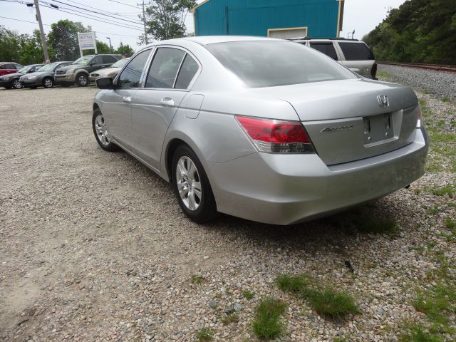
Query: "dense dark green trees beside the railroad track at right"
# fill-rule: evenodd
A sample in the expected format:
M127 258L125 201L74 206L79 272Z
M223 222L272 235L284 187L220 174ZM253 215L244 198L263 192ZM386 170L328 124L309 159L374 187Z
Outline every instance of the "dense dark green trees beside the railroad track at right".
M456 1L410 0L363 37L378 61L456 64Z

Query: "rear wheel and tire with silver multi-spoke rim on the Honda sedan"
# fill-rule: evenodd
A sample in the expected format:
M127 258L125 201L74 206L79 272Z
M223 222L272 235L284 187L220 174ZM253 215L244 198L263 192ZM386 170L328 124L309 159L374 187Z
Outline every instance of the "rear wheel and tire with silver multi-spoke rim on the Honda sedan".
M217 217L217 205L206 172L189 146L177 147L171 171L174 192L182 212L197 223L209 222Z

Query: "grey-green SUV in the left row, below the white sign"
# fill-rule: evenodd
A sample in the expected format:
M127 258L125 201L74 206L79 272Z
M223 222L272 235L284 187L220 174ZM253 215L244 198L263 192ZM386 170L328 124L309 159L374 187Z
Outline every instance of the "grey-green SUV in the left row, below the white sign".
M89 84L89 75L92 71L107 68L122 58L122 55L98 54L88 55L78 58L70 66L58 68L54 75L56 84L61 86L71 86L76 84L85 87Z

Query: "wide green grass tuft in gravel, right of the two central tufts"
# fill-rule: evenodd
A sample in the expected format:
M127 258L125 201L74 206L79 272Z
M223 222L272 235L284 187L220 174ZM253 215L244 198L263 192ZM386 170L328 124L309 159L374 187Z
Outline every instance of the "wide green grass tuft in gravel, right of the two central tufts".
M306 299L312 308L325 318L343 319L352 314L359 314L353 298L349 294L339 292L331 287L310 291Z

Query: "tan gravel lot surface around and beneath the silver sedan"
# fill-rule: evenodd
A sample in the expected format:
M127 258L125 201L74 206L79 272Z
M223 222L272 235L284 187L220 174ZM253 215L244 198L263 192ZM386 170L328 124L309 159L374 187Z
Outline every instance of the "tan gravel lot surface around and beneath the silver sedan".
M410 323L428 325L412 303L417 289L440 281L430 272L442 259L455 260L454 237L441 234L456 208L426 189L454 183L454 173L426 174L375 204L293 227L227 216L198 225L160 177L98 147L95 91L0 90L4 341L197 341L202 326L215 341L256 341L252 319L264 296L288 304L281 341L398 341ZM436 120L454 110L430 97L427 105ZM362 233L350 223L359 214L390 217L399 232ZM277 274L303 272L351 294L361 314L326 320L274 286ZM445 276L455 284L454 264ZM235 304L239 322L224 326Z

